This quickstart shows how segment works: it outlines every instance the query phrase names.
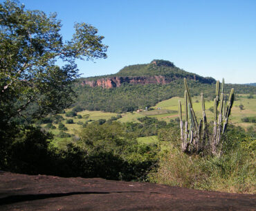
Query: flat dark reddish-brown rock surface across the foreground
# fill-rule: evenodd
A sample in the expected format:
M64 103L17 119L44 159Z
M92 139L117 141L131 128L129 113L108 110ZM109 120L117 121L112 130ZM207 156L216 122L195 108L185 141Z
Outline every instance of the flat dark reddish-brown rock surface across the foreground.
M0 172L0 210L256 210L255 194Z

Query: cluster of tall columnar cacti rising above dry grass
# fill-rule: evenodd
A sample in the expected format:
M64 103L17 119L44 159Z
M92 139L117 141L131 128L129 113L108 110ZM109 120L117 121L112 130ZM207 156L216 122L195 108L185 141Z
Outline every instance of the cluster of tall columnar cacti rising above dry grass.
M219 92L219 81L216 84L216 97L214 98L214 121L213 132L209 133L209 125L205 115L205 103L203 93L201 93L202 118L199 122L192 106L192 99L188 84L184 78L184 113L185 120L182 118L181 101L179 100L179 118L181 128L181 149L188 154L199 154L203 152L206 145L210 146L212 154L217 154L217 147L221 142L221 135L226 131L228 117L234 102L234 89L231 89L228 102L223 100L224 80L221 83L221 93Z

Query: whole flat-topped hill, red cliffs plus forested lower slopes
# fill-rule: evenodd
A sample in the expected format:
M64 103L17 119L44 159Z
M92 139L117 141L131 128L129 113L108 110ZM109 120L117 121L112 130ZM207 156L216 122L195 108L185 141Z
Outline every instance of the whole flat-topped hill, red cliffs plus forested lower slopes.
M149 64L125 66L116 74L78 79L74 87L77 99L73 106L78 110L116 113L145 109L174 96L182 97L184 77L188 80L191 95L203 92L205 98L214 98L214 78L189 73L172 62L155 59ZM255 86L226 84L227 95L231 88L235 88L235 93L256 93Z

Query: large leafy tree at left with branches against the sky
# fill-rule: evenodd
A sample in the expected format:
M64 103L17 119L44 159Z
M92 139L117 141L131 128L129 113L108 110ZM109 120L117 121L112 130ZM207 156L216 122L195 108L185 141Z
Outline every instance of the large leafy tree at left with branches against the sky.
M107 57L104 37L93 26L75 24L73 38L64 41L56 14L26 10L18 1L0 4L0 24L1 125L21 116L60 112L75 95L71 89L78 76L75 59Z

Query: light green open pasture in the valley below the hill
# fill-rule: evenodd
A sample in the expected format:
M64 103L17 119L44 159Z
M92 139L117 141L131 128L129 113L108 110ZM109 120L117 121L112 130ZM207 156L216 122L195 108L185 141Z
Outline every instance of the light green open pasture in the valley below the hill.
M166 122L170 122L171 119L179 118L178 116L178 101L181 100L181 104L184 104L183 98L171 98L169 100L164 100L162 102L159 102L156 104L156 106L152 107L154 110L151 111L141 111L141 112L127 112L122 113L122 118L118 119L120 122L139 122L138 118L142 118L144 116L148 117L154 117L158 120L165 120ZM196 113L196 116L198 119L201 118L201 98L195 97L192 98L193 108ZM241 105L242 109L241 109ZM206 109L206 116L208 118L208 121L212 120L213 113L210 111L210 107L213 106L212 100L205 99L205 109ZM71 111L71 109L66 109L66 112ZM62 120L62 123L67 127L67 131L65 131L68 134L78 134L80 129L82 129L82 125L77 125L77 122L84 123L84 122L93 122L100 119L109 120L111 117L115 117L118 115L118 113L108 113L103 111L80 111L77 112L77 115L82 116L82 118L75 117L66 117L65 113L60 114L64 120ZM242 122L241 118L245 117L251 117L256 116L256 95L253 96L253 98L248 98L248 95L236 95L235 96L235 102L232 107L232 112L230 116L230 122L234 125L239 125L243 128L248 127L255 127L255 123L251 122ZM66 120L73 119L73 124L66 124ZM53 124L56 129L50 129L53 134L57 135L60 133L58 128L58 125ZM45 125L42 125L42 127L45 127ZM66 140L70 140L71 138L66 138ZM153 141L154 138L149 138L149 143ZM140 141L146 142L145 138L140 138Z

